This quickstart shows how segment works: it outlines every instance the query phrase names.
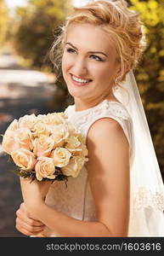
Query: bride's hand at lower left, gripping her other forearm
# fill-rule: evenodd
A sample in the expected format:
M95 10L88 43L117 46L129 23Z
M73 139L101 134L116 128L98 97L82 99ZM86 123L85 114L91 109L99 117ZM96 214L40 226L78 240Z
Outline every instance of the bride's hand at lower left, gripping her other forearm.
M36 236L42 230L44 230L45 225L42 222L31 218L29 212L25 207L25 203L21 203L20 208L16 212L16 229L19 230L25 236Z

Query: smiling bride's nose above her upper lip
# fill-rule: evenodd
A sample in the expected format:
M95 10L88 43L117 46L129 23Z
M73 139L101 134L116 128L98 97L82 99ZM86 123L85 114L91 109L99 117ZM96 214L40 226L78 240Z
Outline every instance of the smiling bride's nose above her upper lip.
M74 62L72 73L76 76L84 76L88 73L87 63L83 58L76 58Z

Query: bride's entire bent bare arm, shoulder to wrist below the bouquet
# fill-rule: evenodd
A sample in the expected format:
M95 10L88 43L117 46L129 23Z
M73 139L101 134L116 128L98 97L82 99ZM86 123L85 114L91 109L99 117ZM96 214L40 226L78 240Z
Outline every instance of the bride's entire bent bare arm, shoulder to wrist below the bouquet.
M88 131L87 145L88 177L97 221L82 221L55 211L44 203L40 185L29 184L22 179L26 207L34 218L51 230L55 230L57 236L127 236L129 219L127 138L114 119L99 119ZM32 197L28 195L30 191Z

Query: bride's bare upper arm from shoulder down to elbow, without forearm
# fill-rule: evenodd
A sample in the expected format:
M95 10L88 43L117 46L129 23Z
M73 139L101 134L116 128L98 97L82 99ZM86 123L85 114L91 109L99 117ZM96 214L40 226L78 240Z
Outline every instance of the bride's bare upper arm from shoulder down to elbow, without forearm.
M114 119L99 119L88 131L88 176L97 218L114 236L127 236L130 205L129 144Z

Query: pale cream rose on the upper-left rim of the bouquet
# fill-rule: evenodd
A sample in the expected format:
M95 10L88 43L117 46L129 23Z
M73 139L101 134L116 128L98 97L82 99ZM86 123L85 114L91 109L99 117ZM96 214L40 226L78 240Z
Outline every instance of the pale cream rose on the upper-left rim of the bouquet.
M25 116L21 117L19 119L19 127L20 128L28 128L31 131L34 130L34 126L37 125L38 119L37 116L32 113L32 114L25 114Z

